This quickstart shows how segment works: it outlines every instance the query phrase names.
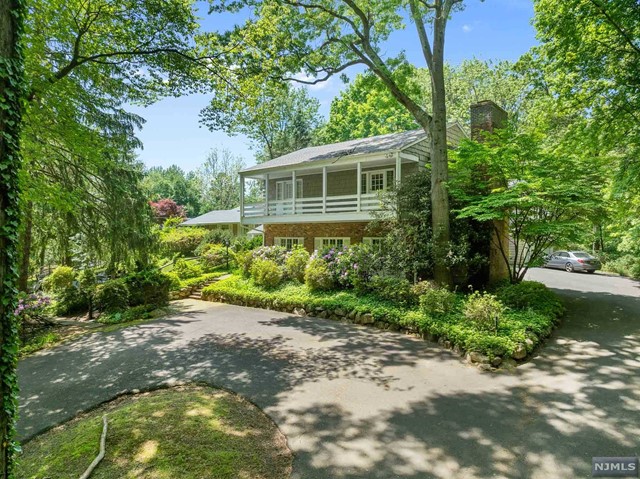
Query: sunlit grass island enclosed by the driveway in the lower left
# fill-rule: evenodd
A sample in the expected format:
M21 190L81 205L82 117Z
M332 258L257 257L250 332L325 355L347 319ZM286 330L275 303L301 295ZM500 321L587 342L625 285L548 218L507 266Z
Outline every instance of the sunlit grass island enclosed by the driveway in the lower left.
M208 387L118 399L23 446L18 478L77 478L98 453L92 479L283 479L291 452L273 422L244 399Z

